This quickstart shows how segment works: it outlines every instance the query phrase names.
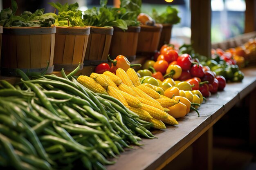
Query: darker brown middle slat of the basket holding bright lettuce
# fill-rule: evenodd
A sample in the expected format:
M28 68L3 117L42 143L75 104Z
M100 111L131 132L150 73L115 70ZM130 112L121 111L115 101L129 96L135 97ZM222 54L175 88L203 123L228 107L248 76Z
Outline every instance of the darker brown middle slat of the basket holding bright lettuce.
M75 41L74 35L66 35L62 64L71 64L72 63L73 52L74 52L74 41Z

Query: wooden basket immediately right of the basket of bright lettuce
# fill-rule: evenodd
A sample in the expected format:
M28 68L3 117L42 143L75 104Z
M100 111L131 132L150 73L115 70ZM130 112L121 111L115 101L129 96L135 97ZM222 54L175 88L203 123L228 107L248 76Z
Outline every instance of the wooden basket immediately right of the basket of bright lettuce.
M91 26L83 62L85 66L97 66L103 62L108 62L113 31L113 28Z

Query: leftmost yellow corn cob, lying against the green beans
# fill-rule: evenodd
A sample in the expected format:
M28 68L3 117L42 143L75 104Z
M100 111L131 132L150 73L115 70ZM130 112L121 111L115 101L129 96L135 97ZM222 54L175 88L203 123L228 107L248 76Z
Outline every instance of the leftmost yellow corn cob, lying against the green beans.
M106 95L108 94L107 91L91 77L88 77L86 75L79 75L77 81L83 86L89 88L94 93L102 93Z

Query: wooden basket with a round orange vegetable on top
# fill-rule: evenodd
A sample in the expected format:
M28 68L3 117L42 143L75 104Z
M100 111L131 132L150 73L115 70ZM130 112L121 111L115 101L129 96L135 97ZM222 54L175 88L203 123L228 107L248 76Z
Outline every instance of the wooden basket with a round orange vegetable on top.
M162 27L162 24L141 25L137 53L155 53L157 51Z

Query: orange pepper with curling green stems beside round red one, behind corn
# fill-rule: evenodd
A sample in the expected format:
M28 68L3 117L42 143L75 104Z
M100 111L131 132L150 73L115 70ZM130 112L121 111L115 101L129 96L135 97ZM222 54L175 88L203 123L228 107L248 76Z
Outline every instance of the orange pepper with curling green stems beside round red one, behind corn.
M130 62L124 55L117 55L115 60L111 60L108 55L108 60L111 62L111 71L113 73L116 73L118 68L122 68L124 71L127 71L128 68L132 66L141 66L141 64L130 64Z

